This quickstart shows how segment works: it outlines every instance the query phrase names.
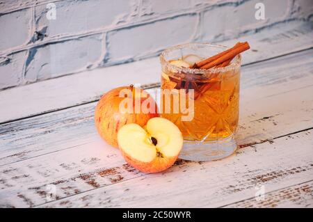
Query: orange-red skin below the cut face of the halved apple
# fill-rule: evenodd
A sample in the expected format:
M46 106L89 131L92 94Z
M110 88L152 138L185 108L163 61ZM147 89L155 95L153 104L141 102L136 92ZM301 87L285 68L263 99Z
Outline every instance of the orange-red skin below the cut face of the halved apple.
M176 157L156 157L151 162L143 162L129 157L129 155L122 149L120 149L120 152L127 161L127 164L143 173L159 173L161 171L165 171L170 168L170 166L172 166L178 158L178 155Z

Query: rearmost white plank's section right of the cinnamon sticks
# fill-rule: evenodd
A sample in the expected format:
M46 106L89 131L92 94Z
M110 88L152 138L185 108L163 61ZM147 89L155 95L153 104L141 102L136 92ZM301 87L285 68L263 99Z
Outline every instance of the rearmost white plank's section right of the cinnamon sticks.
M312 47L312 31L312 22L294 21L288 25L277 24L252 34L247 33L241 38L224 41L223 44L234 45L239 41L248 41L251 50L243 54L243 64L250 64Z

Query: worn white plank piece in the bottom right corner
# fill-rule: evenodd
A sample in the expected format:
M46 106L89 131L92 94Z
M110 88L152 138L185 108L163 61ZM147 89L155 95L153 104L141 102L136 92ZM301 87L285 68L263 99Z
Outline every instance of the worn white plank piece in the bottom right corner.
M313 180L241 200L224 207L313 207Z

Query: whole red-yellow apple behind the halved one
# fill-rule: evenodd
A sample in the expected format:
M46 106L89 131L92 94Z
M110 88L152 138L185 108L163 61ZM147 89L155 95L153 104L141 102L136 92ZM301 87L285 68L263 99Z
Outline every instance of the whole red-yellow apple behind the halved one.
M118 130L123 125L136 123L143 127L157 116L157 103L145 90L123 86L102 95L95 108L95 126L107 143L118 148Z

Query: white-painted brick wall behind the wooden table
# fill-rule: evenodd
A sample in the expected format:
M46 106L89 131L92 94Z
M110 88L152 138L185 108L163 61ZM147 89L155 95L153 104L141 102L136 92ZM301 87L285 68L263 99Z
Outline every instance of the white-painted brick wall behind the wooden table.
M56 20L46 17L56 4ZM265 20L255 19L255 3ZM0 1L0 90L217 42L276 23L312 21L312 0Z

